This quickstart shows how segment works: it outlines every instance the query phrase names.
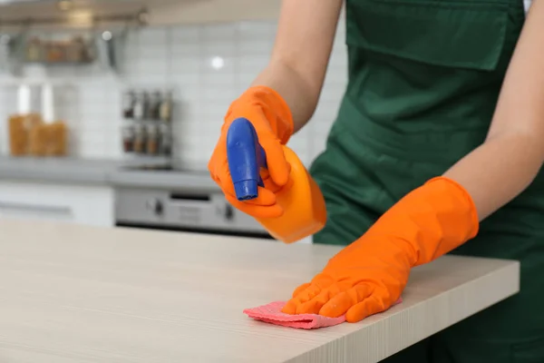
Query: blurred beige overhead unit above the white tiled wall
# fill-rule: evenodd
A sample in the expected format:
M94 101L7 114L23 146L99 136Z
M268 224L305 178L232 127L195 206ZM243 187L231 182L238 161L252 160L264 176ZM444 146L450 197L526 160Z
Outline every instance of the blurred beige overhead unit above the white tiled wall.
M0 0L0 28L28 23L57 26L53 19L59 18L75 18L73 23L91 19L87 25L68 22L77 27L101 26L108 20L125 25L133 21L148 25L276 21L280 5L281 0ZM140 15L145 15L145 21Z

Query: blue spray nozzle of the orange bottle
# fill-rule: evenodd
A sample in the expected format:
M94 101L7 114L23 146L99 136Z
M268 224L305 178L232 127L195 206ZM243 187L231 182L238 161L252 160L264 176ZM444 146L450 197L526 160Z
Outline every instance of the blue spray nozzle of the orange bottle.
M236 119L228 127L227 158L238 201L257 198L257 187L264 187L260 168L267 167L267 155L248 119Z

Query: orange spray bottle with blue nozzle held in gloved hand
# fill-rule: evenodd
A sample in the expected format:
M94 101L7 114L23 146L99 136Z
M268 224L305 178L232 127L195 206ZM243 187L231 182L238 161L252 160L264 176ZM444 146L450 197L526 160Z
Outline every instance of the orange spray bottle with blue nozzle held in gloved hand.
M256 220L277 240L286 243L302 240L325 226L323 194L296 153L284 147L291 165L289 181L276 192L277 203L284 210L277 218ZM264 187L261 168L267 169L267 155L258 143L257 132L247 119L232 122L227 134L228 168L238 201L257 198L257 186Z

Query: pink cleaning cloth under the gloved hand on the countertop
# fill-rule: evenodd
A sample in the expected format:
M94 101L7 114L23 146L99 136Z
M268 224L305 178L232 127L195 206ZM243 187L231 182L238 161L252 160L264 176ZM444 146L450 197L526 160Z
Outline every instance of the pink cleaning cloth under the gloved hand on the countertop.
M399 304L400 302L402 302L402 299L399 299L393 305ZM266 323L296 329L325 328L345 322L344 315L338 318L326 318L318 314L289 315L281 312L281 309L285 305L285 301L274 301L257 308L245 309L244 314L248 315L249 318L264 321Z

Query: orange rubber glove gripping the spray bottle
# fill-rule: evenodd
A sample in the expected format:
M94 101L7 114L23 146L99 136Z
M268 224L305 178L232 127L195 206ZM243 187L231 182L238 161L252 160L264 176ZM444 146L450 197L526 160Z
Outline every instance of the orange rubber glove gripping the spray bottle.
M227 133L230 123L244 117L253 124L258 141L267 153L267 171L261 171L265 188L258 188L258 197L250 201L238 201L228 170ZM276 202L275 192L286 185L290 166L283 146L293 134L291 111L283 98L266 86L251 87L238 100L230 104L221 135L208 163L211 178L219 184L227 200L240 211L257 218L275 218L283 210Z

